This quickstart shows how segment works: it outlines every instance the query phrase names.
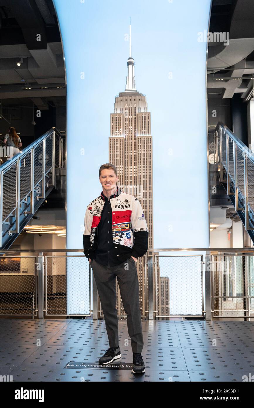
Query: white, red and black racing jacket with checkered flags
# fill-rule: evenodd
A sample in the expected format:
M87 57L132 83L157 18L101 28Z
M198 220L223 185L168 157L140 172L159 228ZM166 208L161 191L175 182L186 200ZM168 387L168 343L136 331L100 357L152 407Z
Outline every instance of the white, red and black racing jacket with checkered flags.
M97 248L97 226L105 200L101 194L88 204L85 211L85 231L83 233L84 254L89 259L95 256ZM145 255L148 249L149 231L147 222L138 199L131 194L120 191L110 199L112 208L112 238L114 252L119 262L128 257Z

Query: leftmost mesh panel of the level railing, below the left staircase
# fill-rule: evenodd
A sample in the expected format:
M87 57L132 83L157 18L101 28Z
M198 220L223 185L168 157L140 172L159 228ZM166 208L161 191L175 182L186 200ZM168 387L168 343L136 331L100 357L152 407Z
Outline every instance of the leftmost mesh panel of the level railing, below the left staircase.
M35 256L0 257L0 315L36 315Z

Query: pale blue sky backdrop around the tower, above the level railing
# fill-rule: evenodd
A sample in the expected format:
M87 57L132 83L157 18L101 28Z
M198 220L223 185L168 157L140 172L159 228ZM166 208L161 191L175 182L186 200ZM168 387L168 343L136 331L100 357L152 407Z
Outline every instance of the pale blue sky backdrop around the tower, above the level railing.
M85 208L102 191L110 113L125 90L129 17L136 89L151 112L154 247L208 246L206 43L197 33L208 29L210 0L54 3L67 71L68 247L82 247Z

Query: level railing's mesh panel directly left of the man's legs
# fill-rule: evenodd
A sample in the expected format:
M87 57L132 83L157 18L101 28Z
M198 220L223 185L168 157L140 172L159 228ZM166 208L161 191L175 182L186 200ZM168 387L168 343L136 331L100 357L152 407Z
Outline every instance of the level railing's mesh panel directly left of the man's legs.
M46 256L46 315L91 315L90 270L83 256ZM68 293L68 297L67 297Z

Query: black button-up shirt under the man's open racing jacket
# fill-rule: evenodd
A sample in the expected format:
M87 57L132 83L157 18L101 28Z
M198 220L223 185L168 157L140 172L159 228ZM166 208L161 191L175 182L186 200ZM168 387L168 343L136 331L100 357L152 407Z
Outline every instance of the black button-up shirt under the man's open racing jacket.
M112 194L108 199L103 191L101 196L105 200L101 212L101 220L97 226L97 248L95 250L94 259L99 264L104 266L109 262L109 266L116 266L123 261L117 259L117 255L114 248L113 237L112 237L112 208L110 204L110 199L116 197L121 193L119 187L117 187L116 193Z

